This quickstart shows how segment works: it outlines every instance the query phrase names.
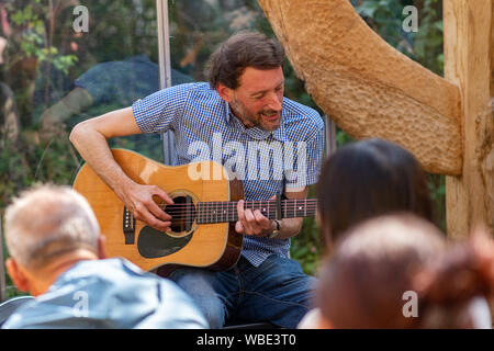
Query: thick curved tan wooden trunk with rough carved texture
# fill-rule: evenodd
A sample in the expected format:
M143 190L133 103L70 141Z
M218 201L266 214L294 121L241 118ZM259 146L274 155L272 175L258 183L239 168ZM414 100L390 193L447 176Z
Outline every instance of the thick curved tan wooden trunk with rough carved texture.
M348 0L259 0L317 105L355 139L395 141L430 173L461 174L457 86L401 54Z

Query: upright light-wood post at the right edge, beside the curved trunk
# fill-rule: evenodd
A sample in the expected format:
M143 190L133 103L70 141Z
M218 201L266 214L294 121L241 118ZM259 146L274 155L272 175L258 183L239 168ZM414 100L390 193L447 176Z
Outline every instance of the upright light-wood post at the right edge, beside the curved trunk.
M494 0L444 0L445 78L460 88L463 166L446 179L447 230L494 234Z

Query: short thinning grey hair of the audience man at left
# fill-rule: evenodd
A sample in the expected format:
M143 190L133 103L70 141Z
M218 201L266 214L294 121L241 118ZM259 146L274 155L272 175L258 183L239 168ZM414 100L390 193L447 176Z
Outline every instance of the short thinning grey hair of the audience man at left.
M68 186L35 186L21 193L5 211L7 248L24 267L40 268L80 248L98 252L99 235L89 203Z

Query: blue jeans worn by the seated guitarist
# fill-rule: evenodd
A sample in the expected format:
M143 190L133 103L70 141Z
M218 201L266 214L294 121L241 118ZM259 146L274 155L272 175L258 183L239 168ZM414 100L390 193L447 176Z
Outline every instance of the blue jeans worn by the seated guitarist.
M211 328L258 321L295 328L311 307L316 282L296 261L278 256L258 268L240 257L228 271L181 268L169 278L192 296Z

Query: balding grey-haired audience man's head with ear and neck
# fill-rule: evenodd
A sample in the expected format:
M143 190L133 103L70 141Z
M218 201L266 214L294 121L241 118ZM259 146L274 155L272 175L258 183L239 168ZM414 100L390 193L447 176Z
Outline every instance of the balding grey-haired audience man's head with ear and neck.
M83 199L66 186L23 192L5 211L7 269L22 291L40 295L57 273L82 259L105 257L98 220Z

